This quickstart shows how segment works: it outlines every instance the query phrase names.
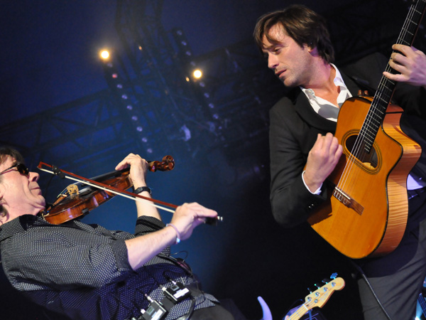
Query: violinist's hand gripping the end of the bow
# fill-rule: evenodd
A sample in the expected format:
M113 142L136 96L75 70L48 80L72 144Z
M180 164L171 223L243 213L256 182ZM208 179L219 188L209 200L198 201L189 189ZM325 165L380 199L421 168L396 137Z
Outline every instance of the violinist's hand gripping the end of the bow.
M181 240L186 240L192 235L197 225L204 223L205 218L216 218L215 210L206 208L199 203L184 203L176 208L173 218L170 223L178 228Z

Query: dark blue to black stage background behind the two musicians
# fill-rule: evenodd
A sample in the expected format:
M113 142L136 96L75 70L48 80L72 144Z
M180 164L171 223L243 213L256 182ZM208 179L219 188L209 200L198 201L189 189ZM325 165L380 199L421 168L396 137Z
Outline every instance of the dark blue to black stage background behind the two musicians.
M44 161L81 176L111 171L129 152L171 154L173 171L148 176L154 198L197 201L224 217L173 247L207 292L247 319L261 319L261 296L281 319L337 272L346 287L324 316L361 319L350 262L308 225L285 230L271 215L268 109L285 88L251 33L261 14L293 3L327 18L338 65L388 55L408 12L402 0L1 1L0 144L33 171ZM416 46L424 39L421 28ZM203 80L190 77L194 66ZM48 181L40 173L43 188ZM48 201L68 183L54 178ZM131 232L135 215L132 201L114 198L83 220ZM60 319L2 283L1 319Z

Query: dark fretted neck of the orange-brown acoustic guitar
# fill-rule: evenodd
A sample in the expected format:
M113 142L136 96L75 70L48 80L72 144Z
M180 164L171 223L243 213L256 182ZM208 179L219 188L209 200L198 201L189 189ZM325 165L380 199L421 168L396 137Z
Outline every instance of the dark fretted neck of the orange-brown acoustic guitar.
M422 21L423 14L425 14L425 9L426 0L417 0L410 6L407 18L405 18L403 28L400 31L396 43L405 46L411 46L413 44L420 21ZM386 65L386 71L393 74L397 73L389 64ZM395 85L395 81L382 76L376 95L374 95L373 102L371 103L370 111L367 114L366 121L360 132L361 137L364 137L364 142L366 144L365 149L367 152L371 150L371 146L376 139L378 129L386 115L386 109L389 102L391 102Z

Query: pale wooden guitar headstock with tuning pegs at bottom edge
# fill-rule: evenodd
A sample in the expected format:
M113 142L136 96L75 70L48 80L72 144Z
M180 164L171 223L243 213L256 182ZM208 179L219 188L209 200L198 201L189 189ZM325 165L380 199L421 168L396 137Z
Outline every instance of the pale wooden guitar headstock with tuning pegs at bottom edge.
M334 291L342 290L343 288L344 279L340 277L332 279L332 281L324 284L322 287L315 290L315 292L308 294L305 297L305 303L300 305L299 308L288 317L288 320L299 320L307 311L310 311L316 306L321 308L329 300Z

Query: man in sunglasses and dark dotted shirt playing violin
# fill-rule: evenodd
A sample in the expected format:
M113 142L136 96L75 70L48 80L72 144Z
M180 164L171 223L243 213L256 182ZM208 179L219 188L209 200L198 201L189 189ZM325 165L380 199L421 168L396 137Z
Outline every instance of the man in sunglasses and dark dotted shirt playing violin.
M198 203L176 208L165 225L148 201L138 201L135 234L71 220L53 225L39 175L28 171L18 151L0 148L0 249L9 282L46 309L70 319L221 319L234 317L200 284L170 245L217 213ZM134 188L146 187L147 161L129 154Z

